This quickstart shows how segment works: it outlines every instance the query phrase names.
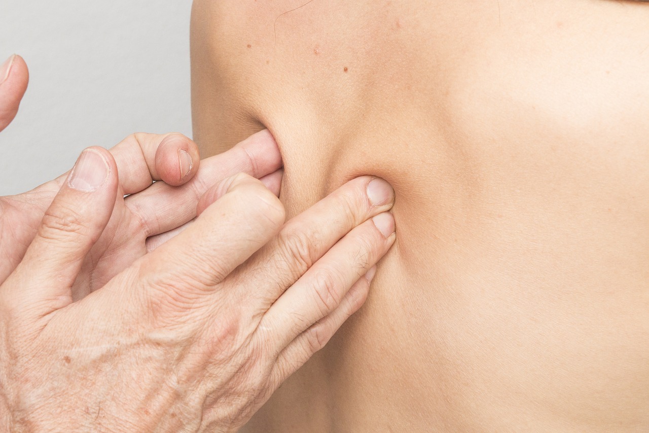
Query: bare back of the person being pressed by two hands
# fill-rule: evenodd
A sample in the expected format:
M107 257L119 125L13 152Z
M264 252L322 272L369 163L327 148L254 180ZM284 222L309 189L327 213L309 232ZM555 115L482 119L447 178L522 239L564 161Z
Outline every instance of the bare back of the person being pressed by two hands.
M194 138L268 127L289 217L384 177L399 238L243 431L649 430L649 5L304 3L195 1Z

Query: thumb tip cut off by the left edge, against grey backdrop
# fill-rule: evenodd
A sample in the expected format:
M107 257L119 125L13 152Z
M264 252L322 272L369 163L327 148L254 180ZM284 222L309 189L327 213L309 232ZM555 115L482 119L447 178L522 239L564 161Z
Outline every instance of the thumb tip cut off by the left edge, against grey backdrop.
M19 55L12 55L0 66L0 131L16 117L28 81L27 64Z

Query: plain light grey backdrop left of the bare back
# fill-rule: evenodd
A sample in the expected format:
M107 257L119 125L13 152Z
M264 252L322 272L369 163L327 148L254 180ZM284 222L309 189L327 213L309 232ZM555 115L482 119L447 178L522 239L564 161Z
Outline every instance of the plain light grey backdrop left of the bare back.
M136 131L191 137L191 0L0 0L0 64L30 82L0 132L0 196L69 170Z

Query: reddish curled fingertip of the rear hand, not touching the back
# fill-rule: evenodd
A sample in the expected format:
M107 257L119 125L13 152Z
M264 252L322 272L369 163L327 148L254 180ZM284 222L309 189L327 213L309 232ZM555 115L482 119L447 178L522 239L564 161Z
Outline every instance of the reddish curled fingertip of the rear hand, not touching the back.
M173 186L182 185L198 171L198 146L182 134L171 133L160 142L155 161L162 181Z

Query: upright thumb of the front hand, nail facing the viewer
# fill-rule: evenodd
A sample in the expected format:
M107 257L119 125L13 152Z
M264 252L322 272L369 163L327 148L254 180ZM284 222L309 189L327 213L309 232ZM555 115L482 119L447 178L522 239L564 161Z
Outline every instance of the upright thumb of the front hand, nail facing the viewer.
M117 196L117 167L103 148L84 150L12 277L19 304L45 315L72 302L71 287L101 236ZM13 296L12 296L13 297Z

